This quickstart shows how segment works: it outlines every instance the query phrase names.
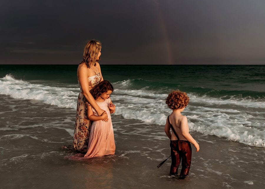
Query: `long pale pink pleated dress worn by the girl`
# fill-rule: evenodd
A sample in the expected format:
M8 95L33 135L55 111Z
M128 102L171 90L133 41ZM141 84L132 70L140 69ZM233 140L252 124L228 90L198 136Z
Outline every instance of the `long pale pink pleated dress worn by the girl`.
M85 157L98 157L115 154L114 133L109 110L110 98L104 102L97 102L98 106L107 112L108 122L102 120L94 121L91 126L90 138ZM94 115L97 112L92 108Z

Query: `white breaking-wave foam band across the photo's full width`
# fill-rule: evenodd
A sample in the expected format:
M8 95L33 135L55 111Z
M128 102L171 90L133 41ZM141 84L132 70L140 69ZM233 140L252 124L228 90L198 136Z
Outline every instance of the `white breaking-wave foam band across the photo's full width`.
M112 101L116 105L116 115L164 125L171 113L165 104L167 94L143 89L128 89L131 80L113 83L115 91ZM75 110L79 88L50 87L32 84L6 75L0 79L0 94L12 98L40 100L49 105ZM188 94L190 103L183 114L187 116L191 131L207 135L225 137L244 144L265 147L263 100L250 98L209 97L196 93ZM141 130L145 128L140 128ZM71 131L67 131L71 132ZM130 134L130 133L126 133Z

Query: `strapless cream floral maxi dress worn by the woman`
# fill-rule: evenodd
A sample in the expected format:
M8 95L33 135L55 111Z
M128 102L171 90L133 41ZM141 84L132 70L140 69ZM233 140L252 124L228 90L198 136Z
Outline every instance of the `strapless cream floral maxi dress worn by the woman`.
M90 89L93 88L101 81L101 74L88 77L88 84ZM75 117L75 127L74 127L74 140L72 150L85 153L87 152L87 146L90 136L91 121L87 118L87 99L83 95L81 85L78 81L80 87L80 93L77 99L76 107L76 117Z

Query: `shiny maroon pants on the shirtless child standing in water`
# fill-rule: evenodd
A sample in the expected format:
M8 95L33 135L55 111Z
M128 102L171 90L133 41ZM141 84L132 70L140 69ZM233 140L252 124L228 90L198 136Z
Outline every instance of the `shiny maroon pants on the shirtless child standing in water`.
M178 167L182 159L180 176L189 174L191 168L191 143L187 140L170 140L171 167L170 175L178 174Z

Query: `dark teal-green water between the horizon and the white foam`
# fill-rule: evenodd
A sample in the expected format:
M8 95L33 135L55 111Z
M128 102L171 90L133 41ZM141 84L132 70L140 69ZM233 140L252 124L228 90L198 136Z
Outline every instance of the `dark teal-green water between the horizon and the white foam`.
M0 78L11 74L15 79L57 86L76 84L78 65L1 65ZM105 80L130 79L130 89L146 87L158 93L180 89L209 96L264 98L265 66L215 65L101 65Z

